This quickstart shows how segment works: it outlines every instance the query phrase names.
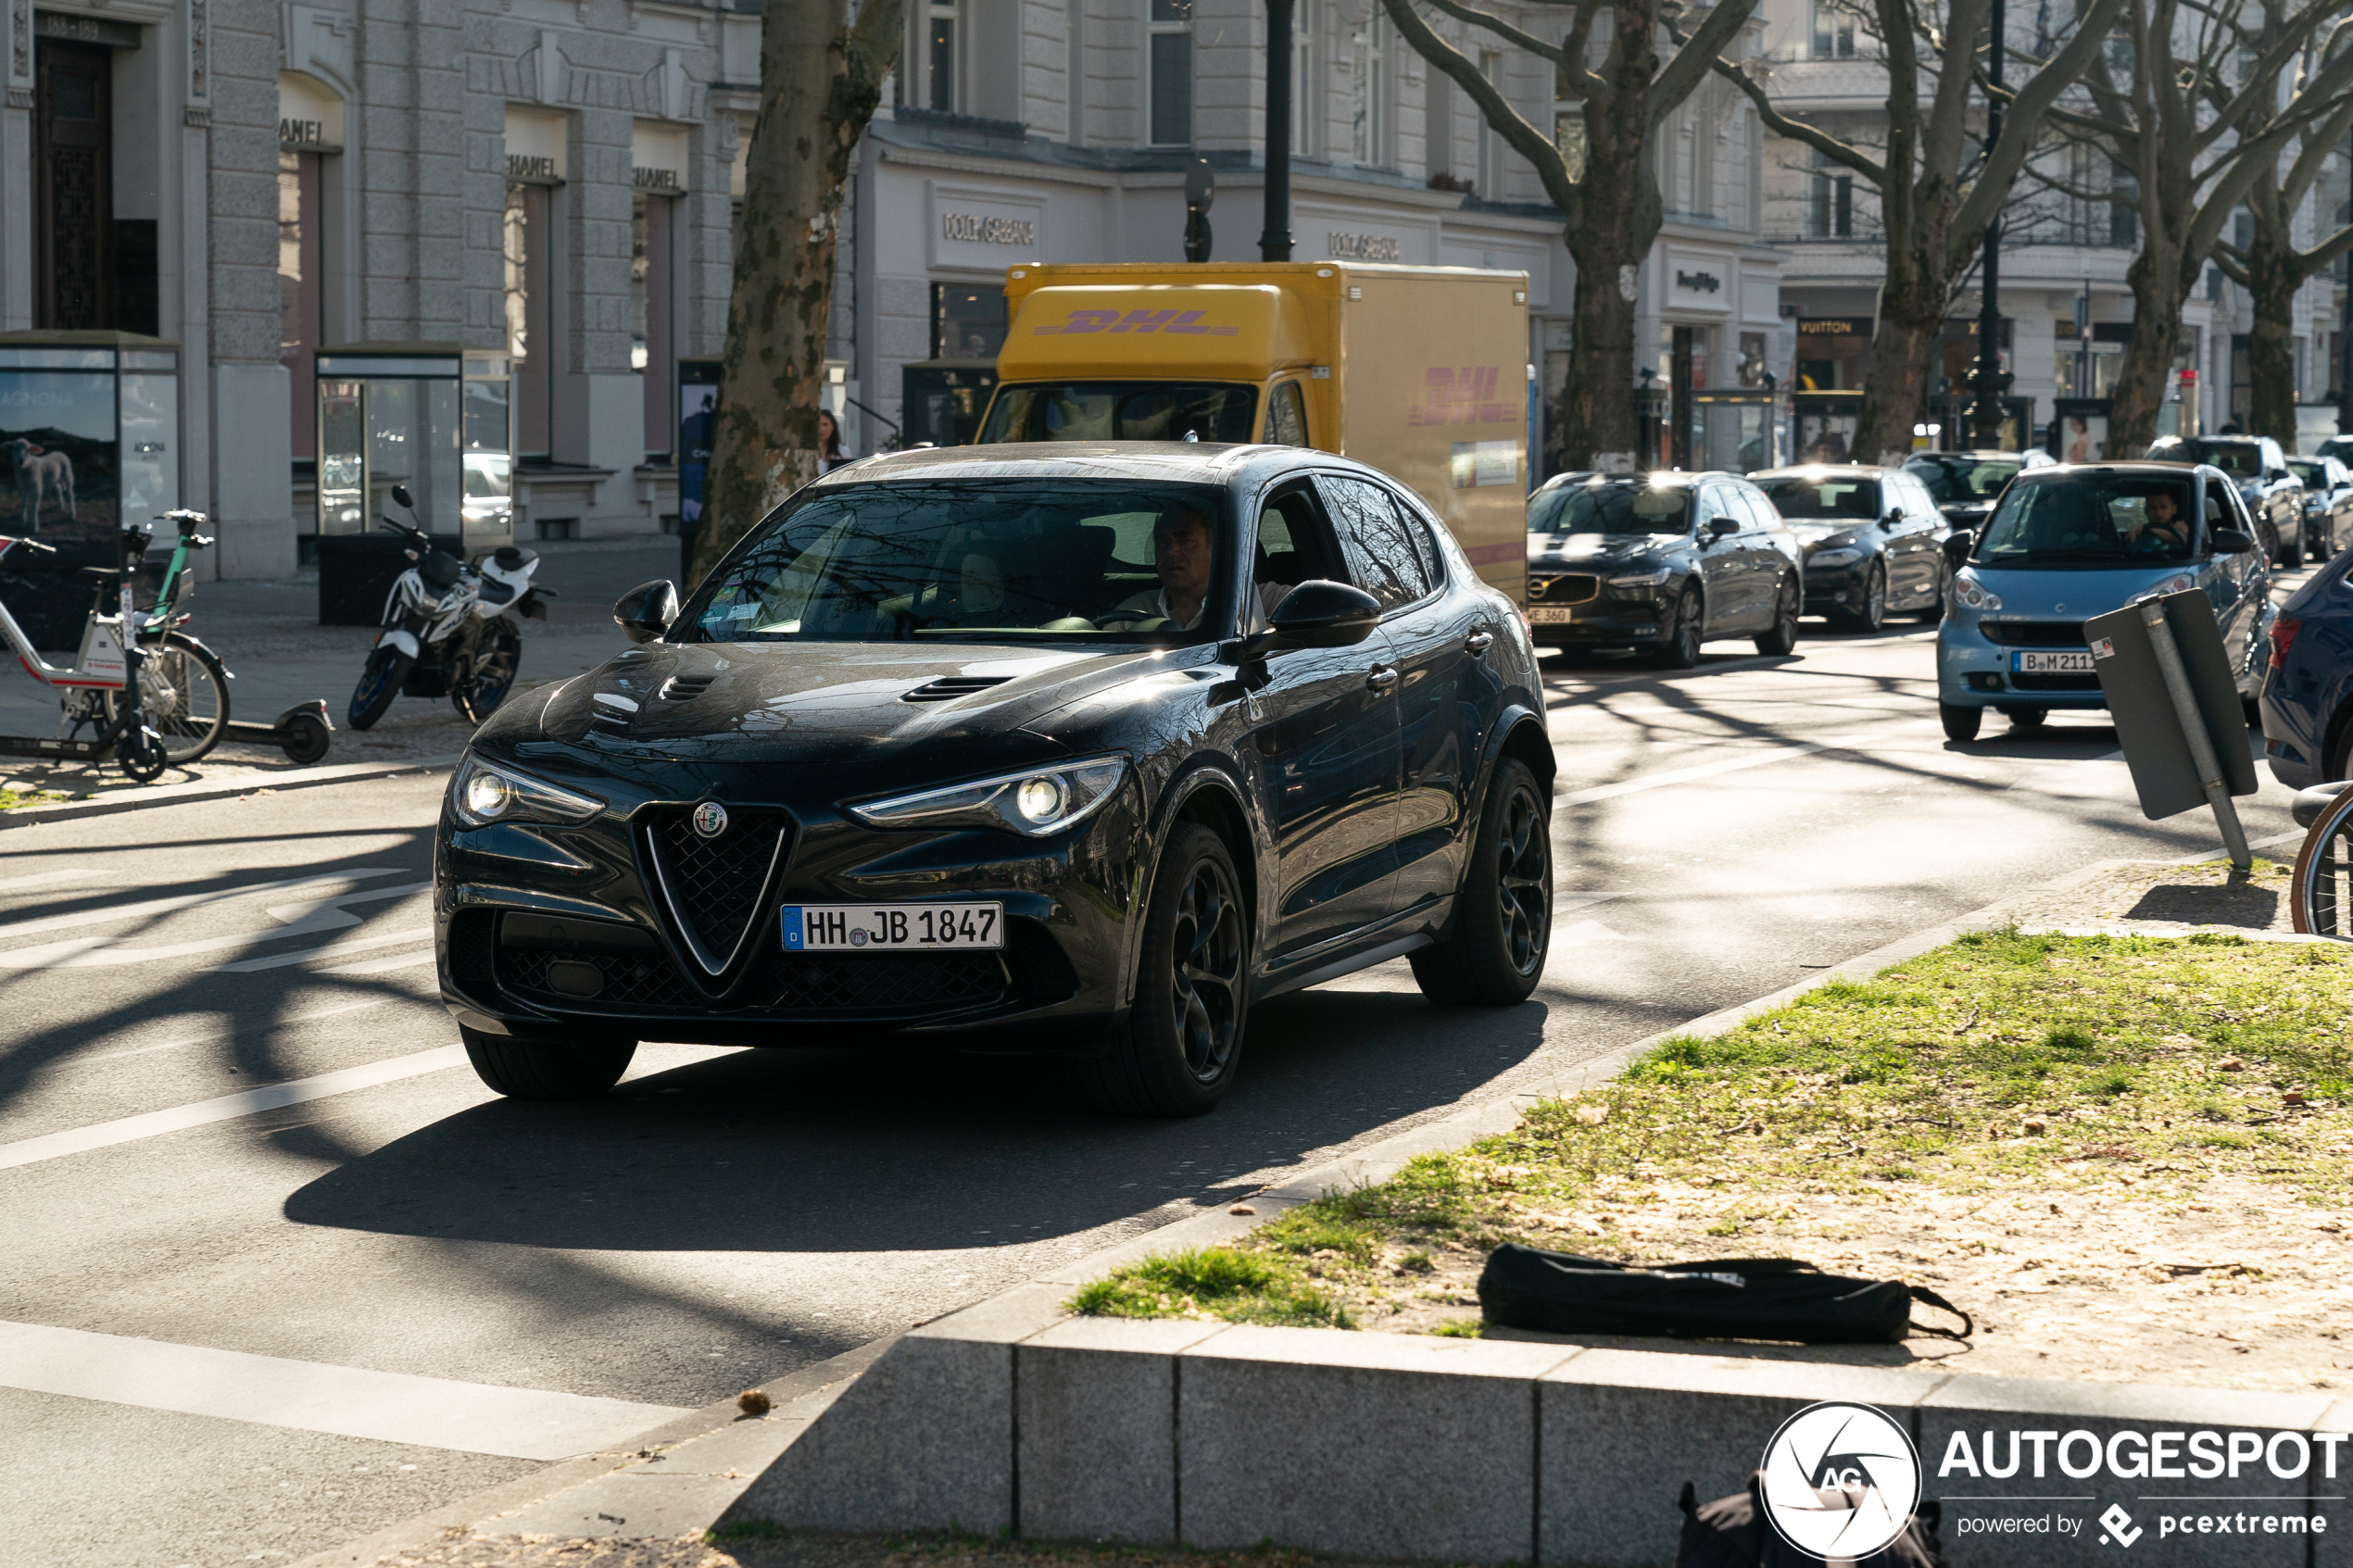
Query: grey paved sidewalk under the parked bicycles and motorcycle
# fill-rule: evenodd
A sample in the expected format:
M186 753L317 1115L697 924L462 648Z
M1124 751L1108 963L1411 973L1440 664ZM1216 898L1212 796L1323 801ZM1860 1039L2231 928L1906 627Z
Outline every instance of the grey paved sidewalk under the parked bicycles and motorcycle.
M612 602L638 583L678 574L678 541L668 536L532 548L539 550L536 583L560 597L548 604L546 621L522 625L518 693L569 679L612 658L626 646L612 623ZM376 632L365 625L320 625L315 571L266 583L198 583L191 611L188 632L219 654L235 677L228 684L231 717L266 724L294 703L327 701L334 750L320 766L419 762L466 750L473 724L459 717L447 698L405 696L374 729L365 733L348 729L344 712ZM54 693L24 675L0 679L0 733L47 736L54 729ZM193 769L169 769L146 788L238 778L266 785L271 776L292 769L285 752L266 741L228 741ZM49 764L28 757L0 759L0 785L68 797L82 792L111 797L141 788L115 766Z

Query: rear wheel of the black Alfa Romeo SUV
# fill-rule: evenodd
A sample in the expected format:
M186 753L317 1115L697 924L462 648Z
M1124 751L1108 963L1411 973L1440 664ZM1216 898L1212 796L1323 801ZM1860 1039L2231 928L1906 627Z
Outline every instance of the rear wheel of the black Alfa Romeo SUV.
M1454 898L1454 929L1412 954L1431 1001L1511 1006L1527 1001L1553 947L1553 813L1544 785L1518 757L1487 780L1487 809Z

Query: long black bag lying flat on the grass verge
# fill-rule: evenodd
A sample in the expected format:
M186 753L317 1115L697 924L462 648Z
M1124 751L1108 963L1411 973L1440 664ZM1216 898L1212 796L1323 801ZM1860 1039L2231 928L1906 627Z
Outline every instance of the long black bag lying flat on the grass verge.
M1922 1300L1960 1331L1911 1321ZM1506 1241L1478 1276L1480 1314L1539 1333L1638 1333L1678 1340L1894 1345L1908 1333L1965 1340L1969 1314L1927 1286L1824 1274L1798 1258L1708 1258L1631 1269Z

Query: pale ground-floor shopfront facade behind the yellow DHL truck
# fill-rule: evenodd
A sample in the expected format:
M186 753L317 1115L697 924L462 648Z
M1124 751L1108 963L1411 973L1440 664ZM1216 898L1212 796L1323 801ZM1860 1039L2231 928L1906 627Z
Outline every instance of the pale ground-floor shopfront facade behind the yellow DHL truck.
M962 122L993 125L993 122ZM969 442L1005 346L1005 270L1024 261L1184 263L1184 172L1047 162L1035 141L878 118L852 197L854 348L833 383L849 454ZM1066 153L1066 148L1056 148ZM1452 190L1292 176L1294 261L1506 268L1529 277L1529 362L1569 313L1558 221L1461 212ZM1259 261L1264 183L1219 169L1212 261Z

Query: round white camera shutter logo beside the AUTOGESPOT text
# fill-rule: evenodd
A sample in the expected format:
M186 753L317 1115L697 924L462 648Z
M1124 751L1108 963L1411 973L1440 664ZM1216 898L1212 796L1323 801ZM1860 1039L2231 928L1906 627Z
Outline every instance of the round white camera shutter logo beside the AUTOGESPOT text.
M1920 1505L1911 1434L1871 1406L1817 1403L1765 1443L1765 1519L1814 1556L1871 1556Z

